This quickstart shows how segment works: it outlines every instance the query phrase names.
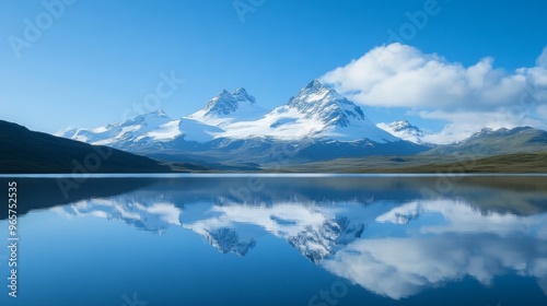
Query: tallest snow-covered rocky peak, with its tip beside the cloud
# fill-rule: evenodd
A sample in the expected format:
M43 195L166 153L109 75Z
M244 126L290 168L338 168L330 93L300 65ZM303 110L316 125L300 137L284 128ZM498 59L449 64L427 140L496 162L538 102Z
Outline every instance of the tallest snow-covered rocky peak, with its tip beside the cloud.
M379 143L399 141L379 129L361 108L334 90L314 80L287 105L276 107L258 120L237 121L224 126L218 137L247 139L270 137L280 140L328 138L339 141L369 139Z

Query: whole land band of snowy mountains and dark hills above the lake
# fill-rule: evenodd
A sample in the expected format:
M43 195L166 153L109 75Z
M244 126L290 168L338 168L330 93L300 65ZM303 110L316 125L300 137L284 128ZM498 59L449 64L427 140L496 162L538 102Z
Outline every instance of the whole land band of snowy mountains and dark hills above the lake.
M424 139L430 134L407 120L373 123L361 107L317 80L271 110L237 89L221 91L178 119L160 109L59 137L7 121L0 122L0 131L2 173L70 173L73 161L81 164L97 150L112 149L115 157L101 160L96 172L430 172L457 163L453 156L507 154L513 155L479 162L480 169L494 170L502 163L505 170L529 172L547 152L547 132L531 127L482 129L459 142L429 143ZM529 161L526 167L510 165L519 165L521 157Z

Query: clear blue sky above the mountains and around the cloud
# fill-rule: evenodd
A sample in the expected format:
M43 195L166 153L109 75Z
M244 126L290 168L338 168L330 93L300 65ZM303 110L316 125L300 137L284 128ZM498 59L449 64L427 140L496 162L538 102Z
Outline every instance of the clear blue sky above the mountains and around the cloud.
M272 108L312 79L340 67L346 68L341 74L322 80L338 82L336 89L342 92L362 92L368 85L356 85L360 78L348 66L353 59L370 59L366 55L382 46L377 52L414 54L411 58L426 61L437 56L435 63L462 71L490 57L492 73L488 75L511 78L515 69L538 66L547 46L547 3L540 0L526 4L464 0L59 1L0 1L0 119L46 132L120 121L128 109L142 109L162 73L185 80L158 103L174 118L201 108L223 89L240 86L261 106ZM62 7L57 5L53 15L47 3ZM237 12L235 7L252 10ZM412 24L411 16L419 19L423 12L427 21ZM42 23L42 33L30 36L33 42L25 36L25 21ZM399 42L403 46L386 47L393 43L389 31L405 37ZM26 45L14 47L21 39ZM358 73L377 73L366 67ZM523 73L535 73L531 82L538 85L534 91L543 97L543 83L537 80L545 74L534 71ZM505 82L501 76L497 81ZM435 108L431 103L405 105L383 96L371 103L371 98L354 96L373 121L406 117L431 131L465 118L473 120L465 107L485 105L470 111L480 118L510 103L472 101L456 109L457 99ZM547 114L543 102L539 98L526 109L535 121L520 122L539 122L544 111ZM491 111L485 110L489 105ZM451 109L457 116L446 115ZM499 119L492 116L488 117L492 122Z

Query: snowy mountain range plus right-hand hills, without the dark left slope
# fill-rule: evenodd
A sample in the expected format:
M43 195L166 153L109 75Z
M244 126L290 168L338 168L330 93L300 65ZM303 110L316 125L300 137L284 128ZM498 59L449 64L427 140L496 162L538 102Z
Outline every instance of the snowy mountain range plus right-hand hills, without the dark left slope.
M168 162L279 169L371 155L535 153L546 151L545 134L529 127L486 129L457 143L429 143L430 134L407 120L375 125L360 106L313 80L271 110L240 87L221 91L183 118L156 110L95 129L70 129L62 137Z

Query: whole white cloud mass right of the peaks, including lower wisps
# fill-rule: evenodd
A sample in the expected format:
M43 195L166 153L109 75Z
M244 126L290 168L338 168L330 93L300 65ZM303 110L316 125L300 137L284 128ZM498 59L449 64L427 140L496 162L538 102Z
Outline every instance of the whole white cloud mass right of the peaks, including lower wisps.
M536 67L510 73L494 68L491 57L465 67L395 43L376 47L321 79L362 105L406 107L422 118L447 120L447 130L438 134L444 141L461 140L482 127L546 128L537 119L547 105L547 47ZM472 122L469 115L481 119ZM454 126L462 117L473 125Z

